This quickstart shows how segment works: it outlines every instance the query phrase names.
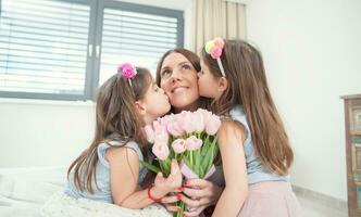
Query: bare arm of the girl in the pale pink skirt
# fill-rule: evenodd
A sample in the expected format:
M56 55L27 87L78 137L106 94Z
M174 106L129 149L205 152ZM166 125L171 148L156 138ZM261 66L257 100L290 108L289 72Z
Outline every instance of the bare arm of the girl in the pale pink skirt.
M237 216L248 194L244 151L245 129L234 122L223 122L217 132L225 189L216 203L213 217Z

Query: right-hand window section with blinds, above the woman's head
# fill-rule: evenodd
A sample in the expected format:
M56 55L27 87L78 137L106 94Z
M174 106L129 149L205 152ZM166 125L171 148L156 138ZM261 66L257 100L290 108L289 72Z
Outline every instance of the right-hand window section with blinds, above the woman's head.
M169 10L154 8L148 8L146 14L127 3L104 5L102 13L99 84L113 75L121 62L150 68L154 74L163 53L183 46L182 14L170 16Z

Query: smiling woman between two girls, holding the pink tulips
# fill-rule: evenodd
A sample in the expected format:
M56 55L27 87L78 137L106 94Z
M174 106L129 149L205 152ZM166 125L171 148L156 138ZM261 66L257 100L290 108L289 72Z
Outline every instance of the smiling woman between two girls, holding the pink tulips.
M199 97L198 77L200 61L197 54L186 49L170 50L160 60L157 68L157 84L167 94L173 113L182 111L196 111L207 107L209 100ZM182 201L188 207L194 207L186 213L187 216L198 216L208 206L216 204L224 187L222 169L210 177L209 180L194 179L186 182ZM197 188L197 190L195 189ZM163 203L173 202L166 197ZM169 210L176 212L177 207L167 206Z

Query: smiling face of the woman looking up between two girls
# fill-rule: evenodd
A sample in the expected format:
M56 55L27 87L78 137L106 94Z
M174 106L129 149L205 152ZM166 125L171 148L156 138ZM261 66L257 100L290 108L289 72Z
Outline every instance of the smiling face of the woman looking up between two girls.
M198 108L197 71L180 53L169 54L162 64L161 88L167 94L175 112L195 111Z

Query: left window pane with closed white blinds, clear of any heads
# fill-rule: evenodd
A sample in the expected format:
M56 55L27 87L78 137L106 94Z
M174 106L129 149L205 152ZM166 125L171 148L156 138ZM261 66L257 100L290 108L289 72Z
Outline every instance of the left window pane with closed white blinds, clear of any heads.
M84 95L89 12L80 3L2 0L0 90Z

